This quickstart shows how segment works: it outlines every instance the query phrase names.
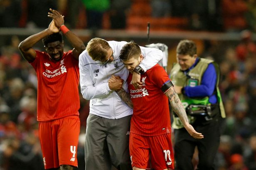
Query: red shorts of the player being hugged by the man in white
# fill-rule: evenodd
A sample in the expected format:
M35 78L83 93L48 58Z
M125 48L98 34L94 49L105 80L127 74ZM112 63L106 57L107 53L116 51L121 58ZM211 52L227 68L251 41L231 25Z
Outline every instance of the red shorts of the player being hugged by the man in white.
M159 136L142 136L130 133L130 158L132 167L149 168L149 156L155 170L174 169L171 133Z

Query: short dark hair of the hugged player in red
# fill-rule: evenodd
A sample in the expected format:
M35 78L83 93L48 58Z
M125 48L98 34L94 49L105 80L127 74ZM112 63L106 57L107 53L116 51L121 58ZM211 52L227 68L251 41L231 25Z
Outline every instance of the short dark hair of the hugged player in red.
M139 57L140 54L142 54L142 51L139 45L130 41L122 47L119 58L121 61L127 61L132 57Z

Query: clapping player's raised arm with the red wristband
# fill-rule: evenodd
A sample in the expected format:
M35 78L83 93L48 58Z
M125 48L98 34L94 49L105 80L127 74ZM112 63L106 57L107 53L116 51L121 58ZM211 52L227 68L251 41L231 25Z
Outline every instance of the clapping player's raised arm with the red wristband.
M72 44L72 47L74 47L72 56L78 60L79 55L85 50L85 44L79 37L77 37L76 34L74 34L64 25L64 16L60 15L60 12L50 9L50 12L48 12L48 17L54 20L55 26L63 32L70 44Z

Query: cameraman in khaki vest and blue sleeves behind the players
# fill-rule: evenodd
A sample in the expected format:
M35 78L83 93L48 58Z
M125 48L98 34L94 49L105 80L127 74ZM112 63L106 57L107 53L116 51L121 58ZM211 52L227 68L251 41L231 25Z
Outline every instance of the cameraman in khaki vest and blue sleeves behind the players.
M194 170L191 160L196 146L199 151L198 170L214 170L220 140L219 119L225 117L218 88L218 65L210 59L197 57L196 44L187 39L179 42L176 59L178 64L171 69L171 81L186 108L189 123L204 134L201 140L189 136L179 117L173 114L176 170ZM190 106L198 106L198 110L193 111Z

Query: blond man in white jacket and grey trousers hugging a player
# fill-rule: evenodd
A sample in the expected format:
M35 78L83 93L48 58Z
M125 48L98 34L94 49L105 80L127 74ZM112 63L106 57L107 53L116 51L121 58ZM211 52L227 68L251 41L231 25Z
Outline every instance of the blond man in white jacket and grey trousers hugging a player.
M90 100L85 139L85 170L132 170L129 158L131 101L125 103L129 71L119 59L127 42L93 38L80 54L80 86L83 98ZM162 59L159 49L140 47L145 57L135 68L132 84L140 88L140 74ZM121 79L108 83L112 75ZM124 80L124 82L123 82ZM124 91L125 90L125 91ZM119 91L118 94L116 91ZM124 99L125 100L125 99ZM145 103L146 104L146 103Z

